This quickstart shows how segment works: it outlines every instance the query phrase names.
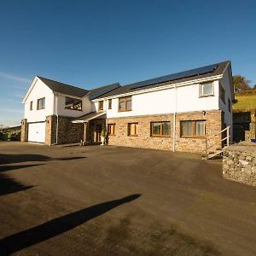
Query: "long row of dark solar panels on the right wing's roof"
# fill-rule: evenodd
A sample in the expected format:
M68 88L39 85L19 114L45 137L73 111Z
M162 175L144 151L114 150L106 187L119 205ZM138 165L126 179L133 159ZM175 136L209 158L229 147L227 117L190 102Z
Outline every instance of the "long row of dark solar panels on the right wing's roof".
M198 67L195 69L190 69L187 71L183 71L183 72L179 72L179 73L172 73L163 77L159 77L156 79L148 79L142 82L137 82L135 84L131 84L131 90L132 89L136 89L139 87L143 87L143 86L148 86L148 85L152 85L152 84L160 84L160 83L164 83L167 81L173 81L173 80L177 80L177 79L185 79L185 78L189 78L189 77L194 77L197 75L201 75L201 74L205 74L205 73L212 73L216 67L218 67L218 64L213 64L213 65L209 65L206 67Z

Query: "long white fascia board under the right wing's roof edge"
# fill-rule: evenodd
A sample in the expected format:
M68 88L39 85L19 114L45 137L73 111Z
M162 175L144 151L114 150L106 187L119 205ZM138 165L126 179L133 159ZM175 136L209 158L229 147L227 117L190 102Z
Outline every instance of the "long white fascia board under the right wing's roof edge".
M180 86L186 86L186 85L190 85L190 84L200 84L200 83L203 83L203 82L218 80L218 79L222 79L222 78L223 78L223 74L220 74L218 76L209 77L209 78L206 78L206 79L195 79L195 80L190 80L190 81L181 82L181 83L177 83L177 84L167 84L167 85L164 85L164 86L154 87L154 88L150 88L150 89L137 90L137 91L134 91L134 92L126 92L126 93L118 94L118 95L114 95L114 96L98 98L98 99L95 99L95 100L91 100L91 102L100 102L100 101L105 101L105 100L108 100L108 99L118 98L118 97L121 97L121 96L132 96L132 95L143 94L143 93L152 92L152 91L156 91L156 90L167 90L167 89L172 89L172 88L180 87Z

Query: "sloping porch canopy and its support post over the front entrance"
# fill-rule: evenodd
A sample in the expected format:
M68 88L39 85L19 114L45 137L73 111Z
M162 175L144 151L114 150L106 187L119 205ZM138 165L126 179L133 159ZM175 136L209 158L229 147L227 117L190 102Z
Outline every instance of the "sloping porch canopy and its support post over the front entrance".
M90 112L86 113L83 116L80 116L78 119L73 119L74 124L84 124L84 141L83 144L87 144L89 141L89 134L88 134L88 123L92 119L106 119L107 114L106 111L99 111L99 112Z

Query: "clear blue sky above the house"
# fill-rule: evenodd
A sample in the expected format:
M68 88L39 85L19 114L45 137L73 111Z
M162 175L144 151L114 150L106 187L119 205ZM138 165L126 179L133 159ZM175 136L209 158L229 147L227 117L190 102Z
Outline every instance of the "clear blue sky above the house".
M0 124L35 75L86 89L232 61L256 84L255 1L1 1Z

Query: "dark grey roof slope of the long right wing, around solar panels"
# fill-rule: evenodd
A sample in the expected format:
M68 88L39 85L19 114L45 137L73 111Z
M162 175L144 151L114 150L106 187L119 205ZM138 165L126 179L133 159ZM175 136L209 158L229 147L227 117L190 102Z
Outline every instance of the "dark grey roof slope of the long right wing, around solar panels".
M134 88L134 89L133 89L133 87L137 83L141 83L141 82L137 82L137 83L133 83L133 84L126 84L124 86L121 86L115 90L112 90L112 91L100 96L99 98L108 97L108 96L116 96L116 95L125 94L125 93L129 93L129 92L137 91L137 90L151 89L151 88L155 88L155 87L164 86L166 84L177 84L177 83L190 81L193 79L205 79L208 77L217 76L217 75L224 73L225 67L227 67L229 64L230 64L230 61L219 62L219 63L216 63L217 67L214 69L213 72L203 73L203 74L195 75L193 77L190 76L190 77L186 77L183 79L175 79L175 80L168 79L169 77L175 77L175 74L170 74L170 75L163 76L163 77L160 77L157 79L148 79L148 80L143 81L143 84L145 84L143 87ZM201 67L201 68L203 68L203 67ZM189 71L187 71L187 72L189 72ZM166 81L163 80L163 78L165 78L165 77L167 78ZM156 81L161 80L161 83L152 84L152 80L156 80Z

